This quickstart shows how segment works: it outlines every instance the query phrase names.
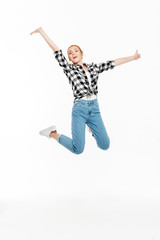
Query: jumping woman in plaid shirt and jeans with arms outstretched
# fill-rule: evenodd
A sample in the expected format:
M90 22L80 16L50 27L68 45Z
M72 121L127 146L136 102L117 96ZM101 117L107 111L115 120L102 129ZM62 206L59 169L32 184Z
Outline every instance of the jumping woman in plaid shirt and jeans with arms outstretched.
M72 108L72 139L57 133L56 127L51 126L39 133L48 138L54 138L72 153L80 154L85 146L85 126L89 127L92 136L97 142L97 146L103 150L109 148L110 139L104 126L99 103L97 100L98 77L104 70L113 69L123 63L137 60L141 57L138 51L133 56L118 58L102 62L99 64L83 63L83 52L77 45L71 45L67 54L69 63L61 49L47 36L42 27L37 28L33 33L40 33L53 50L56 60L63 68L64 73L69 79L74 95L74 104Z

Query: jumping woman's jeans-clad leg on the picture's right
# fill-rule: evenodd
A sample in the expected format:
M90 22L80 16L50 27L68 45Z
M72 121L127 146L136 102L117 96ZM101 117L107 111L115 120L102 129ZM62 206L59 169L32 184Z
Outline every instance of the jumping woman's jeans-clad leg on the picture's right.
M104 126L98 103L95 103L87 125L93 133L97 146L103 150L107 150L110 145L110 139Z

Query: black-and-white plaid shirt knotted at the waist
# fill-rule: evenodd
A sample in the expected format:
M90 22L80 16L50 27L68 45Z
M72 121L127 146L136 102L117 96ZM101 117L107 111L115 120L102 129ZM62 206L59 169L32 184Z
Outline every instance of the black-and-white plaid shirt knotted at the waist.
M61 49L53 53L59 65L63 68L63 72L69 79L69 83L71 84L73 90L74 101L91 94L97 95L98 93L97 81L99 73L102 73L104 70L107 71L108 69L112 69L115 67L114 60L101 62L99 64L93 62L90 64L83 63L83 65L88 68L91 77L91 85L89 85L87 75L81 65L79 64L74 65L68 63Z

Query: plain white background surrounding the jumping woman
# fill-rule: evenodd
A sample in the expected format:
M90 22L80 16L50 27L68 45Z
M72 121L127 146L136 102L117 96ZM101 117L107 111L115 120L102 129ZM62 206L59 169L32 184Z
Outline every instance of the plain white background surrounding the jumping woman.
M0 4L0 239L160 240L160 8L153 1ZM77 44L84 62L141 58L99 75L111 145L86 130L74 155L39 131L71 137L73 94L43 37Z

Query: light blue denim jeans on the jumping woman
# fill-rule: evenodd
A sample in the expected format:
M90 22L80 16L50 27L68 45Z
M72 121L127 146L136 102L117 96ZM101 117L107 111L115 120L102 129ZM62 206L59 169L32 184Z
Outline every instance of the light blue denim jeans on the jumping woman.
M103 150L107 150L110 139L100 114L97 99L78 99L74 102L72 107L72 139L61 134L57 141L72 153L82 153L85 146L86 124L91 129L97 146Z

